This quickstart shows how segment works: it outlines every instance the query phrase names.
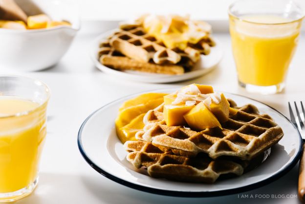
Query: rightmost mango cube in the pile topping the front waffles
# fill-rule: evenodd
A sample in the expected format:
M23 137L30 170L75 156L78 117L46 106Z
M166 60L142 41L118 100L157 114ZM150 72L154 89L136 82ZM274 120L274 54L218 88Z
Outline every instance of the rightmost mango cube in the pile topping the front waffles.
M226 122L229 119L230 104L223 93L220 94L221 101L217 104L212 100L210 105L211 112L217 117L219 122Z

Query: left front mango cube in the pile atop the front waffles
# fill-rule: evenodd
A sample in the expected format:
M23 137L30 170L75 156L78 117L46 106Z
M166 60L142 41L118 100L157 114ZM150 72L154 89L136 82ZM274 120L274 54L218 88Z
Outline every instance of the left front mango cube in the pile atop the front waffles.
M183 115L193 109L195 106L185 105L165 105L163 116L168 126L186 125Z

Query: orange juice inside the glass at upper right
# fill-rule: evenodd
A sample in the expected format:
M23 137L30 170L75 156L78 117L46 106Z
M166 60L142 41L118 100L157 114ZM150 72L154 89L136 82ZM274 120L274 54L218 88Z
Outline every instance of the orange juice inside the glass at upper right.
M239 80L273 86L284 82L294 55L300 23L274 15L230 16L230 33ZM290 22L290 23L289 23Z

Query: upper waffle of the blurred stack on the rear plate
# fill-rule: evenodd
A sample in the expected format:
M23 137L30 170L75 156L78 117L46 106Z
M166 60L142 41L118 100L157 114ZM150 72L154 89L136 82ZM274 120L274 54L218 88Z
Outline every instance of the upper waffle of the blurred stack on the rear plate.
M200 52L192 47L185 50L172 50L137 24L122 24L121 31L111 37L110 44L121 53L142 62L153 61L155 64L187 64L199 60ZM190 61L190 62L189 62Z

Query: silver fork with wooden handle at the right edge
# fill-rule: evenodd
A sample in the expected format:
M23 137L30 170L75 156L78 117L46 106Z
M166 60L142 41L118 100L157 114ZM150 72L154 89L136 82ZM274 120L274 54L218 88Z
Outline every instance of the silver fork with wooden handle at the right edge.
M297 103L294 101L294 106L296 110L296 115L294 116L294 113L292 111L291 105L288 102L288 107L289 107L289 113L290 113L290 118L291 122L297 127L297 129L300 131L302 139L303 139L303 152L302 152L302 157L300 159L300 167L299 167L299 186L298 186L298 194L299 194L299 199L305 203L305 110L303 103L301 101L301 110L302 112L299 111Z

